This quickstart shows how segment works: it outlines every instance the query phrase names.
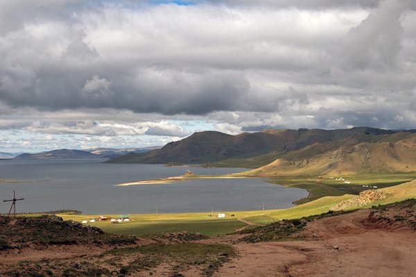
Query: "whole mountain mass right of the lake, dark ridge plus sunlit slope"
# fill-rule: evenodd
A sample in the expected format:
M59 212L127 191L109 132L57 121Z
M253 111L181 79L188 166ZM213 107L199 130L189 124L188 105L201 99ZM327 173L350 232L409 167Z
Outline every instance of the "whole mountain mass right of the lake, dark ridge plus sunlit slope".
M416 171L416 130L265 130L227 135L205 131L110 163L252 167L252 176Z

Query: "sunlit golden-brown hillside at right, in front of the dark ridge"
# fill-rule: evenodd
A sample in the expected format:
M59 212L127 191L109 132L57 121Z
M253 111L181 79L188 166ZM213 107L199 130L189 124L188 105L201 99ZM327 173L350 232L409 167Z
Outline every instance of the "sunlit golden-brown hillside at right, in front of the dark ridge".
M247 176L349 175L416 171L416 137L398 142L361 142L309 158L279 158Z

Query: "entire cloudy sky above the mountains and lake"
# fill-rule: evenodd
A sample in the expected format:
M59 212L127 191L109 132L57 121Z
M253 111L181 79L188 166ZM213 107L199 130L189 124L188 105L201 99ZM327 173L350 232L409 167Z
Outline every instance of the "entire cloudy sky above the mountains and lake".
M0 151L416 128L414 0L1 0Z

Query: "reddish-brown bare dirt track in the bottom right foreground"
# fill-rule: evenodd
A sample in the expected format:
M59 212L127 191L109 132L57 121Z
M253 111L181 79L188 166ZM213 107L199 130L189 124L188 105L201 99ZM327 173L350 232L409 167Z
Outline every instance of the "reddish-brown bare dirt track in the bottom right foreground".
M234 244L239 258L214 276L414 276L415 231L372 224L368 215L313 221L301 234L306 240Z

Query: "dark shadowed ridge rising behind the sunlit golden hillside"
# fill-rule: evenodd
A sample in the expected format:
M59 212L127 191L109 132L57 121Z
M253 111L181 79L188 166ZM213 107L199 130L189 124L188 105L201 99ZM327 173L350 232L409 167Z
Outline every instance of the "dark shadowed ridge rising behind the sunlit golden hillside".
M413 133L414 131L406 132ZM194 133L190 137L178 142L168 143L162 149L147 153L129 153L107 162L201 164L269 154L269 159L266 158L265 164L267 164L267 162L275 159L275 155L302 149L315 143L343 140L353 135L381 136L393 135L395 133L399 133L399 131L367 127L340 130L265 130L258 133L241 133L239 135L205 131ZM270 155L270 153L272 154ZM239 165L234 163L234 165L229 166Z

